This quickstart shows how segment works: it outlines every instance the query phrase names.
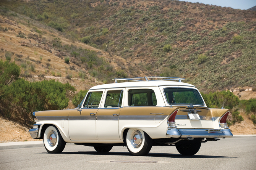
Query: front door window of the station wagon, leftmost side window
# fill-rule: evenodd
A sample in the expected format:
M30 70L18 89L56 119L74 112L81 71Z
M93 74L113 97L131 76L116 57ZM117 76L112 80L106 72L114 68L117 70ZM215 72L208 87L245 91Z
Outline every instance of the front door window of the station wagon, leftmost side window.
M89 92L84 102L84 108L97 108L100 104L102 91Z

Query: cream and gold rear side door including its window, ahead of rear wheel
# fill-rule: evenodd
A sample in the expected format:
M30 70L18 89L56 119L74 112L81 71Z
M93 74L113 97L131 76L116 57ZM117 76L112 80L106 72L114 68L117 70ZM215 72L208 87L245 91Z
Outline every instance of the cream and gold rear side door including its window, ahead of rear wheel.
M123 101L123 89L108 90L104 103L96 115L99 140L120 140L118 131L119 114Z

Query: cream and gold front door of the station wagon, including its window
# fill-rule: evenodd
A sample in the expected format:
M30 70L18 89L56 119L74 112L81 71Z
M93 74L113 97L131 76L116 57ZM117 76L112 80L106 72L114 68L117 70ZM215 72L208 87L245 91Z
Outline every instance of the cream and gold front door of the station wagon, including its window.
M81 109L70 111L68 116L70 140L97 140L96 114L104 91L89 91Z

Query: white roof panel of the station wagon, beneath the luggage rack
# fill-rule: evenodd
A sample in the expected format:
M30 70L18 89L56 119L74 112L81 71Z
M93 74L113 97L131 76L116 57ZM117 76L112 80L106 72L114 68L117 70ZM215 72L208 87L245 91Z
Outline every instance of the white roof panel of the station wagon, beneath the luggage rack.
M96 89L105 89L105 88L123 88L123 87L157 87L157 86L190 86L195 87L189 83L182 83L182 82L175 82L175 81L164 81L164 80L157 80L157 81L139 81L139 82L123 82L123 83L110 83L110 84L102 84L97 85L89 90L96 90Z

